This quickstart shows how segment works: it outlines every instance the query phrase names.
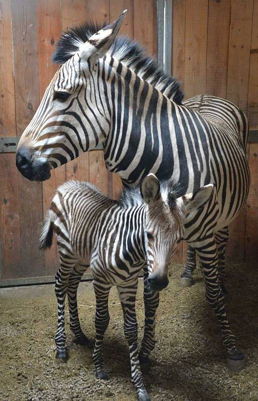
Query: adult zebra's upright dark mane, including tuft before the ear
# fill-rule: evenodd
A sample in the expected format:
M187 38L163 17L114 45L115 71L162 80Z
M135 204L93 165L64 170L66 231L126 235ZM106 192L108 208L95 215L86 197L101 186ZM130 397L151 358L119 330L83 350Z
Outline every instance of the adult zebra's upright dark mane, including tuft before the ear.
M106 23L86 22L78 27L69 28L57 43L52 61L56 64L65 63L78 52L79 47L84 42L104 26L106 26ZM139 43L128 37L119 36L114 40L107 54L125 64L126 67L134 71L143 80L149 82L169 99L181 104L183 92L179 83L175 78L164 73Z

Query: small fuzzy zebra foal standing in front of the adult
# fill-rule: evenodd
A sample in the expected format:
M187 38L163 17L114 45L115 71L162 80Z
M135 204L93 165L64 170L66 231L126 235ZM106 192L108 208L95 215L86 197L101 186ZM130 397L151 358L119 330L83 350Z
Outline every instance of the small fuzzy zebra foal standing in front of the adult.
M138 276L142 268L150 294L168 285L168 265L177 242L183 236L187 213L208 202L213 185L198 194L176 198L171 183L160 185L149 174L140 189L125 189L118 201L105 197L88 182L68 181L57 189L43 227L40 247L50 248L55 233L60 258L55 293L58 328L55 336L57 358L66 360L64 303L68 296L70 328L80 344L88 338L81 330L77 310L77 287L82 274L91 267L96 296L96 339L93 361L96 376L106 379L102 343L109 322L108 294L118 290L124 334L129 345L132 381L141 401L150 397L144 387L137 344L135 311ZM150 311L154 315L155 310ZM152 313L151 313L152 312ZM153 344L154 347L154 344Z

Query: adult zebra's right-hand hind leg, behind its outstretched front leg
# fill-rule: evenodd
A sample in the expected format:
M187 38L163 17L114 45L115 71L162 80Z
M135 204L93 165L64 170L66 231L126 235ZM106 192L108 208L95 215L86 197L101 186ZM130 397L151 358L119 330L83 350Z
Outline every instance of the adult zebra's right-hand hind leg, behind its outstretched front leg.
M228 227L224 227L223 229L215 233L215 239L218 248L218 282L224 295L227 294L227 290L225 288L226 284L225 248L226 248L226 243L228 242L228 236L229 236Z

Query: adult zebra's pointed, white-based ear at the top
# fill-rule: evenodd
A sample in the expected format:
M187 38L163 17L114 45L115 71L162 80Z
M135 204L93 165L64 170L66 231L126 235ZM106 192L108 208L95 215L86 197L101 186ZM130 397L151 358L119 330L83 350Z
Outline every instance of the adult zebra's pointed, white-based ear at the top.
M106 54L118 34L126 13L127 10L124 10L115 22L96 32L80 47L79 56L82 60L94 64Z

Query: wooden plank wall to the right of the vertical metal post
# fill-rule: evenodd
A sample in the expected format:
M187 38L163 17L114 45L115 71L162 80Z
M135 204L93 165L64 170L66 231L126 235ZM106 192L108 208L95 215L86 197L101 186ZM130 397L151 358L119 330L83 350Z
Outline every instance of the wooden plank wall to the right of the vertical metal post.
M237 104L258 129L258 0L173 0L173 75L185 98L207 93ZM258 264L258 143L247 157L251 187L230 226L228 260ZM176 260L185 259L186 245Z

